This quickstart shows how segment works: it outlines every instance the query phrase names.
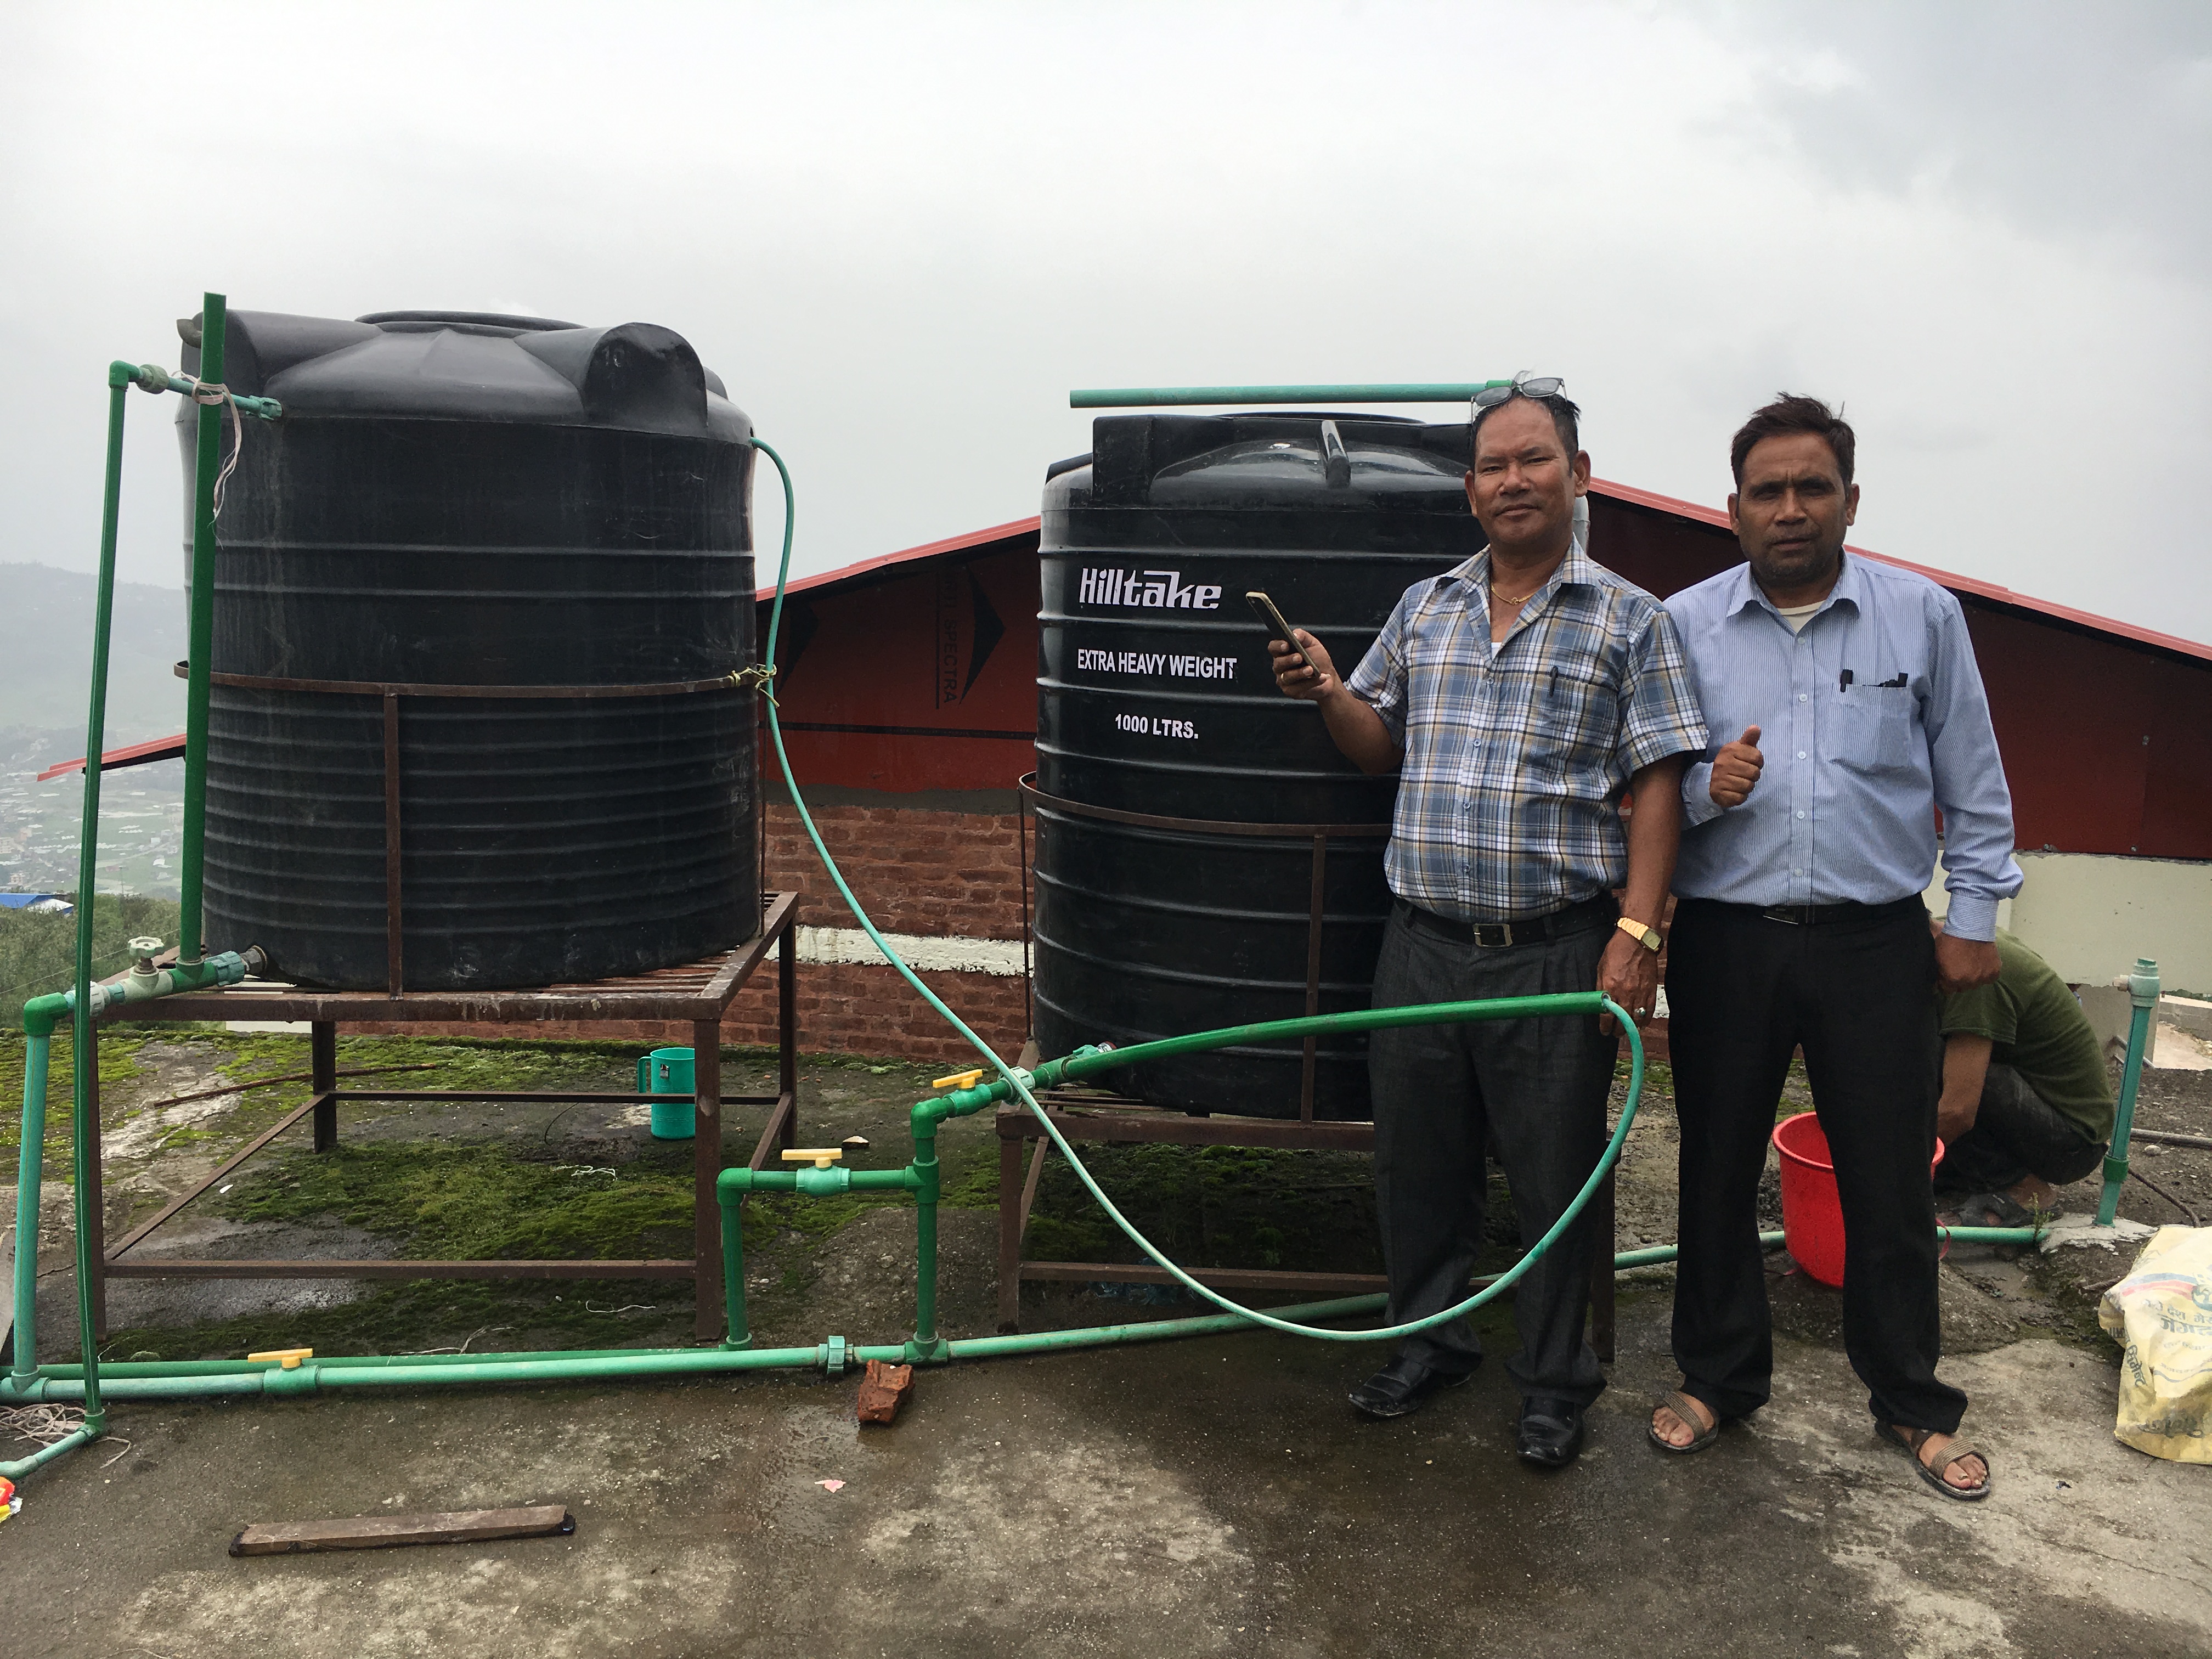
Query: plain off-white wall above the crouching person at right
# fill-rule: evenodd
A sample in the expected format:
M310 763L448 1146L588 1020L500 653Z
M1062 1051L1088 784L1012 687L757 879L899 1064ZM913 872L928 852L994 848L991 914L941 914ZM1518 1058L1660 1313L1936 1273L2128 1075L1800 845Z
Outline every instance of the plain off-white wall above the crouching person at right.
M2115 858L2086 852L2017 854L2026 885L1997 907L1997 927L2017 933L2070 984L2108 984L2148 956L2166 991L2212 991L2212 863ZM1944 869L1927 900L1944 911Z

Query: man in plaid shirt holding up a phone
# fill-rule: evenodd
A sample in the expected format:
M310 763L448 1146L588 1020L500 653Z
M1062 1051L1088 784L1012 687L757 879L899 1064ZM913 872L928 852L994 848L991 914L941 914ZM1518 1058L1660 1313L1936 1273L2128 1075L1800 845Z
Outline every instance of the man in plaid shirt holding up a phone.
M1276 684L1318 703L1360 770L1400 772L1378 1009L1597 987L1641 1022L1657 1000L1681 772L1705 723L1659 602L1575 540L1590 482L1577 414L1557 380L1526 376L1478 400L1467 498L1489 546L1407 588L1349 684L1310 633L1298 650L1270 644ZM1522 1239L1551 1230L1604 1152L1617 1046L1595 1015L1374 1033L1391 1323L1467 1296L1489 1141ZM1535 1464L1575 1458L1606 1387L1582 1334L1595 1248L1571 1228L1513 1303L1522 1352L1506 1369ZM1418 1332L1352 1405L1402 1416L1480 1358L1467 1321Z

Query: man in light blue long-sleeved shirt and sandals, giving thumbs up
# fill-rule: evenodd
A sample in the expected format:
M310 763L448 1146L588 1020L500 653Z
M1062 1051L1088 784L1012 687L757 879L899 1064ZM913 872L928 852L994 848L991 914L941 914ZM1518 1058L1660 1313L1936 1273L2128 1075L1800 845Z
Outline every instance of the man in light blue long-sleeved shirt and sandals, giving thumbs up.
M1878 1431L1973 1500L1989 1460L1955 1438L1966 1396L1936 1378L1936 991L1997 978L1997 900L2022 878L1958 599L1845 553L1854 449L1816 398L1759 409L1730 451L1747 562L1668 599L1717 748L1683 776L1668 956L1683 1385L1650 1438L1703 1451L1767 1400L1759 1177L1803 1046L1843 1199L1845 1352ZM1951 909L1931 938L1938 812Z

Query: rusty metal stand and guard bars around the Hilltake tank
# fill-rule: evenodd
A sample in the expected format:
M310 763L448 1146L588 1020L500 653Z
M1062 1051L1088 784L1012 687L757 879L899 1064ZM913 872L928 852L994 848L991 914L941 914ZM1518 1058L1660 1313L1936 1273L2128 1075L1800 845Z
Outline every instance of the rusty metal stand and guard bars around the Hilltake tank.
M1126 823L1137 830L1168 830L1201 836L1310 836L1314 845L1312 887L1305 911L1305 1011L1321 1013L1321 929L1325 927L1323 896L1327 883L1327 860L1332 838L1376 838L1389 836L1387 823L1228 823L1221 818L1168 818L1157 812L1121 812L1115 807L1093 807L1082 801L1044 794L1037 774L1029 772L1018 783L1022 805L1046 812L1066 812L1077 818L1102 818ZM1042 834L1042 830L1040 830ZM1024 834L1022 858L1022 949L1024 967L1031 936L1029 911L1029 845ZM1022 1057L1024 1066L1035 1066L1037 1055ZM1374 1124L1316 1121L1314 1119L1314 1073L1318 1066L1318 1040L1305 1040L1298 1066L1298 1117L1194 1117L1179 1110L1148 1106L1121 1095L1097 1095L1088 1091L1046 1091L1037 1102L1046 1108L1053 1126L1071 1144L1126 1146L1141 1141L1168 1141L1175 1146L1272 1146L1283 1150L1318 1152L1374 1152ZM1126 1283L1168 1285L1175 1283L1164 1270L1150 1263L1117 1261L1022 1261L1022 1239L1029 1234L1029 1212L1037 1201L1037 1183L1044 1177L1044 1157L1053 1144L1022 1106L998 1110L998 1327L1015 1332L1022 1325L1022 1283ZM1022 1144L1035 1141L1029 1170L1022 1170ZM1590 1201L1593 1225L1601 1239L1613 1241L1613 1177ZM1210 1290L1256 1292L1285 1290L1305 1296L1358 1296L1389 1290L1380 1274L1316 1274L1316 1272L1270 1272L1252 1267L1203 1267L1190 1276ZM1590 1263L1590 1345L1597 1358L1610 1363L1615 1349L1615 1285L1613 1250L1599 1252Z

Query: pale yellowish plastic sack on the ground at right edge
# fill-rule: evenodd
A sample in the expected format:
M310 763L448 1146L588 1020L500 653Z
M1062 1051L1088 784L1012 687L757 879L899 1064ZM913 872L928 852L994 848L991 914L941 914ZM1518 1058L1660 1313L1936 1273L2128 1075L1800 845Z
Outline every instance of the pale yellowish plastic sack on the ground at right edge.
M2112 1438L2172 1462L2212 1462L2212 1228L2159 1228L2097 1323L2126 1349Z

